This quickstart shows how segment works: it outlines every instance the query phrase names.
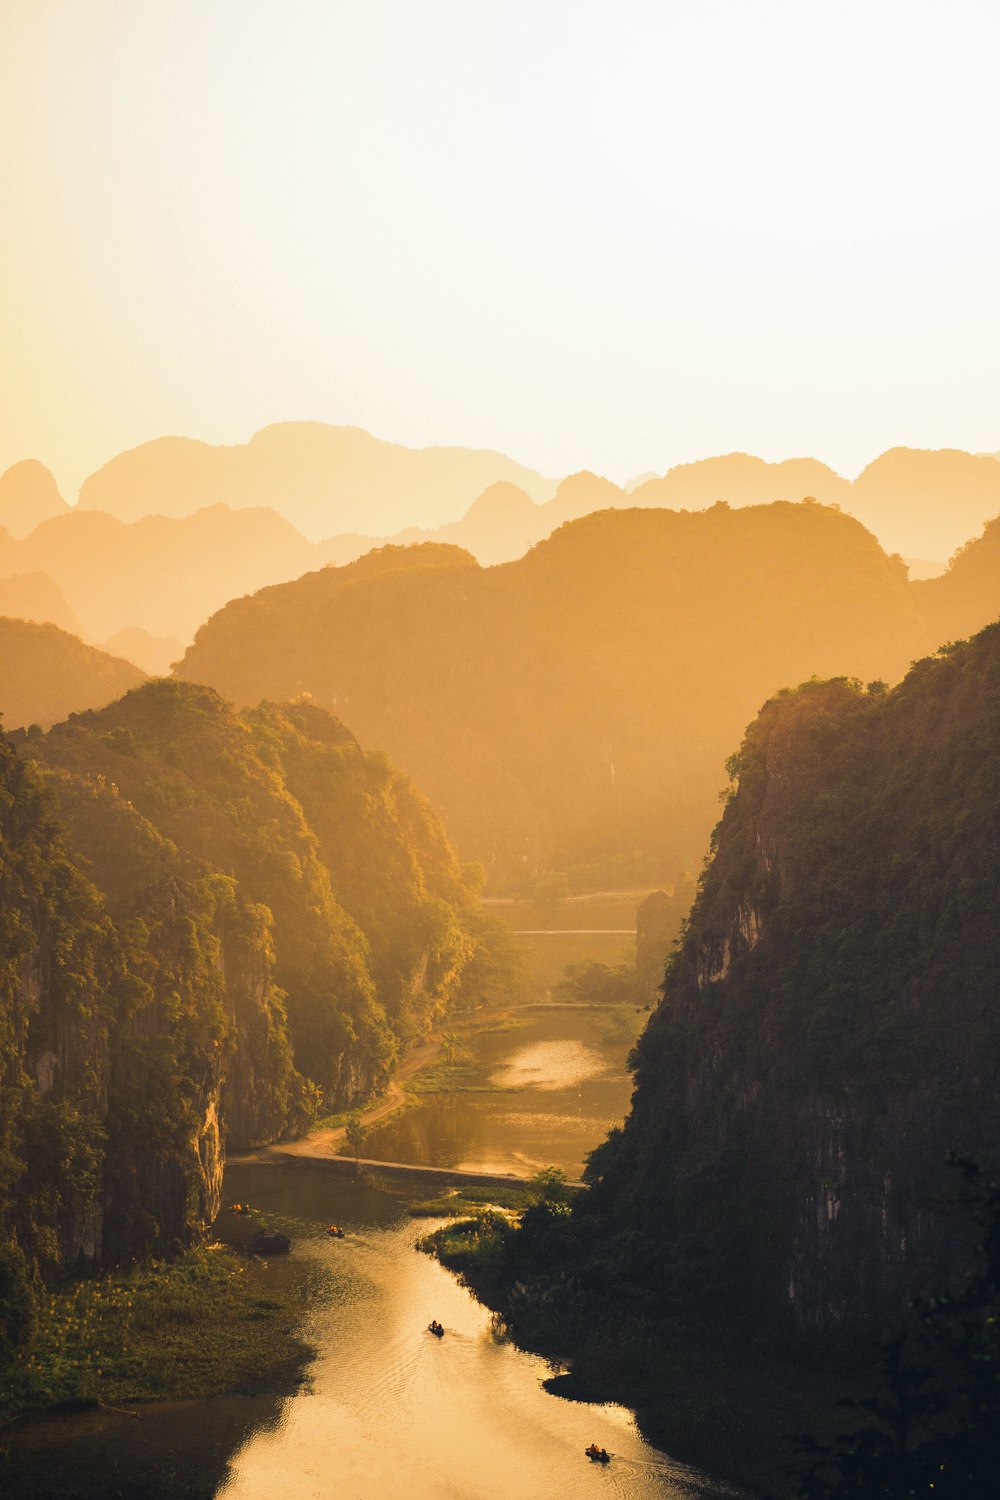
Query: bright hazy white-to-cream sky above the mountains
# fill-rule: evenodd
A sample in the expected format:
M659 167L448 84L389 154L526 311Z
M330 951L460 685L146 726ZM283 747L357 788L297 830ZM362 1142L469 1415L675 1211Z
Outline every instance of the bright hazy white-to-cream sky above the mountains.
M0 470L1000 448L1000 8L0 0Z

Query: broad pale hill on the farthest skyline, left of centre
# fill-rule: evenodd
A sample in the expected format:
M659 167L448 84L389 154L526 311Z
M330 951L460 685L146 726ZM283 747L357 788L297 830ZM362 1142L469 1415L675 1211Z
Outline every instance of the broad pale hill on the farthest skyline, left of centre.
M546 500L553 484L502 453L384 442L361 428L283 422L231 447L156 438L91 474L82 510L121 520L186 516L205 506L265 506L307 537L334 531L384 534L460 514L498 480Z

